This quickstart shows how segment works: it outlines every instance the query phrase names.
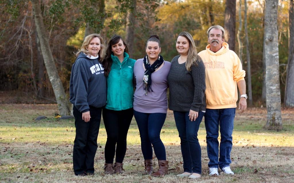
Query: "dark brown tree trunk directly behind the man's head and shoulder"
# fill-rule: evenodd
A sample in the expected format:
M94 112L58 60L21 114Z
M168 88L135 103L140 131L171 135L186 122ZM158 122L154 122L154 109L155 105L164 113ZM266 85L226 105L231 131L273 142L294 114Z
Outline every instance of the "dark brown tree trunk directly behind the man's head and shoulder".
M230 50L235 51L235 29L236 29L236 0L225 2L225 42L229 44Z

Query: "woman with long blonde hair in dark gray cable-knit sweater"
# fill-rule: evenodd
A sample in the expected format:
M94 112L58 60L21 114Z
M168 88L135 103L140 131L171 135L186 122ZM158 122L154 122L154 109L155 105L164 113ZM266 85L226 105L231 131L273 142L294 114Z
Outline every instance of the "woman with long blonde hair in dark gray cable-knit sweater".
M197 133L206 110L205 67L191 34L181 32L176 41L180 55L171 60L168 74L169 109L173 110L181 139L184 172L177 177L201 177L201 147Z

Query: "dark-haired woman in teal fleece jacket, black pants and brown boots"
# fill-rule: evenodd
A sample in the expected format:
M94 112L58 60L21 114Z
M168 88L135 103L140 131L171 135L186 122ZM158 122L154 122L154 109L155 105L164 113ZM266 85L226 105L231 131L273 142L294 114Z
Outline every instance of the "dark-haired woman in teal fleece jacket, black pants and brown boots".
M123 173L127 133L133 118L133 67L136 60L129 58L128 47L121 36L108 42L102 64L107 77L107 102L102 111L107 133L104 173ZM113 165L113 158L116 160Z

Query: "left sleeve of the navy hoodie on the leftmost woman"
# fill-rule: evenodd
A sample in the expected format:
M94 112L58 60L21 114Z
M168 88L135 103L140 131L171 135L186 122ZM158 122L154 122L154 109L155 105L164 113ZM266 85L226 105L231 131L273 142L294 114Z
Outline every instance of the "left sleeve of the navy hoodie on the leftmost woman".
M75 107L81 112L89 111L89 104L87 101L88 96L88 79L86 71L83 65L80 62L77 62L77 65L74 69L73 77L73 89L74 95L76 98Z

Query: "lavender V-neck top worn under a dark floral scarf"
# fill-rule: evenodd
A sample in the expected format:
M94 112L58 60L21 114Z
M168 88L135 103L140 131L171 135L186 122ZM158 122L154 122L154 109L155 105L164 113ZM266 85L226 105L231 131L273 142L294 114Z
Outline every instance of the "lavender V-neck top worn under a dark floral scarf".
M145 95L143 89L143 58L138 59L134 65L134 75L136 79L136 91L134 93L135 111L142 113L167 113L168 101L166 90L168 87L167 76L171 68L171 63L164 61L163 67L151 74L152 91Z

